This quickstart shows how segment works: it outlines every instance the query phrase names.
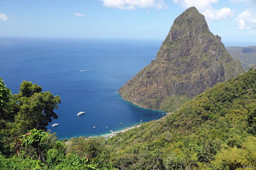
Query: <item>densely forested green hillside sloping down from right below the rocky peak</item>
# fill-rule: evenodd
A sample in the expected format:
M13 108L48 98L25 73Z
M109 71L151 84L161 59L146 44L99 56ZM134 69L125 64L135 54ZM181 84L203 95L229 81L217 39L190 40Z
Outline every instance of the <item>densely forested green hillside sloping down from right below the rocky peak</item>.
M256 70L108 140L120 169L239 169L256 162ZM124 168L126 167L126 168Z

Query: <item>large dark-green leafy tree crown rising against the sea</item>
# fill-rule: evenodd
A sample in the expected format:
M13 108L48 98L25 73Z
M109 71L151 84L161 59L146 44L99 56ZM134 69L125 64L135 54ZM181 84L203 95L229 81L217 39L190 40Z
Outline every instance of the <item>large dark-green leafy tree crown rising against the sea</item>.
M20 93L13 95L13 100L19 105L14 123L18 136L28 129L46 130L46 126L52 122L52 119L58 118L53 110L58 108L58 103L61 103L60 97L53 96L51 92L41 91L42 87L39 85L23 81L20 85ZM11 126L13 129L13 125Z

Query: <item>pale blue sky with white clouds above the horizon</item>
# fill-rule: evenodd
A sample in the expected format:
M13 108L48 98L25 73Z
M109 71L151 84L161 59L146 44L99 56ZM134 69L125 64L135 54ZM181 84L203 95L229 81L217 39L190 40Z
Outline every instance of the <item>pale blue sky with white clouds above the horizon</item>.
M0 0L0 37L164 40L191 6L223 42L256 45L256 0Z

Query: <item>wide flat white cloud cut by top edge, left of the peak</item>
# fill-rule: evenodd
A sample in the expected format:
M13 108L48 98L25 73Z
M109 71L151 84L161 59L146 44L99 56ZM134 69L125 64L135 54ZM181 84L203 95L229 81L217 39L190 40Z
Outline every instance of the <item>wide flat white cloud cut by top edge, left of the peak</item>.
M161 10L167 5L164 0L100 0L103 5L109 8L121 10L135 10L136 8L156 8Z

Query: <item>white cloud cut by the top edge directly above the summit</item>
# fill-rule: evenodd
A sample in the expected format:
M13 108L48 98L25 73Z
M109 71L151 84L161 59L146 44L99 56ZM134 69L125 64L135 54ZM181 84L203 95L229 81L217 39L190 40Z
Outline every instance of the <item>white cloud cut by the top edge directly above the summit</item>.
M215 4L218 2L218 0L173 0L172 1L175 4L179 4L180 6L184 8L189 8L191 6L194 6L197 8L198 11L203 11L206 9L212 9L211 4Z

